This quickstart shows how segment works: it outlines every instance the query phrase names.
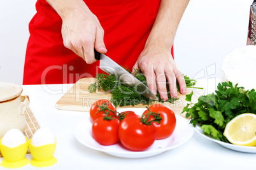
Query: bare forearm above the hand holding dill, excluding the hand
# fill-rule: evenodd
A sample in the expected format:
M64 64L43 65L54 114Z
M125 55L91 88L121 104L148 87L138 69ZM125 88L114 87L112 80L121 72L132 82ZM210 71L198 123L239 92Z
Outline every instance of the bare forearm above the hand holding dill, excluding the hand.
M146 47L153 45L171 49L181 16L189 0L162 0Z

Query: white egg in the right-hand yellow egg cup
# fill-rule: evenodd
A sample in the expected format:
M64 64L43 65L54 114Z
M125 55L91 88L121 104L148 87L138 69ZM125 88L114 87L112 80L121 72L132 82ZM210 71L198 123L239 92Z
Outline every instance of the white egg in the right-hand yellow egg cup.
M40 147L42 145L48 145L55 143L56 138L52 131L48 128L38 129L32 136L31 143L35 147Z

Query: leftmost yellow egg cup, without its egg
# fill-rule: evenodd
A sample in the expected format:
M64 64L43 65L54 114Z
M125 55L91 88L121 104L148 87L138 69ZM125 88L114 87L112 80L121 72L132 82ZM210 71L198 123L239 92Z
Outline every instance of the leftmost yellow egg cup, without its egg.
M29 163L29 160L25 157L25 154L27 154L27 142L18 147L10 148L6 145L2 145L2 139L3 138L0 140L0 150L4 157L4 160L1 163L3 167L17 168Z

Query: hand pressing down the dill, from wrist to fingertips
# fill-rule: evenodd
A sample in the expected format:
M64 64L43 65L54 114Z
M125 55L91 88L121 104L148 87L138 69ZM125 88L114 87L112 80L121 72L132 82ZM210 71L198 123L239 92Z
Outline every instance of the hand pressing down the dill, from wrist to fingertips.
M148 88L155 95L158 89L160 98L164 101L168 99L166 82L169 84L171 97L177 97L176 80L180 85L180 93L186 93L183 74L177 69L170 50L155 46L145 49L132 68L132 72L136 69L140 69L145 75Z

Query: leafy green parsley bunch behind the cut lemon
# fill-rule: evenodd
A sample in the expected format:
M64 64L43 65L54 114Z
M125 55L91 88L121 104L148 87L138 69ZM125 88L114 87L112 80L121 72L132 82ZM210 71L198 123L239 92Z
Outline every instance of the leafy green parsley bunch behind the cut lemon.
M239 114L256 114L255 89L245 91L238 84L222 82L215 93L200 96L197 103L188 103L183 112L187 112L186 117L192 117L193 126L199 124L205 134L229 143L223 135L227 122ZM191 102L192 95L187 95L186 100Z

